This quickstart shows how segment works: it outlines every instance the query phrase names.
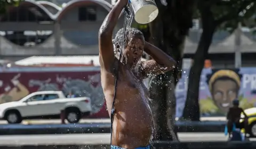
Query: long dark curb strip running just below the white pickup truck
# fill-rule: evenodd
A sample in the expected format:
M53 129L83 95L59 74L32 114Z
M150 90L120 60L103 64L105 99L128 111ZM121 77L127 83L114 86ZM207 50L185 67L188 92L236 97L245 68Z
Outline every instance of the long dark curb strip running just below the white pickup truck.
M178 122L178 133L224 132L225 123ZM51 124L51 125L2 125L0 135L43 135L43 134L93 134L110 133L110 123Z

